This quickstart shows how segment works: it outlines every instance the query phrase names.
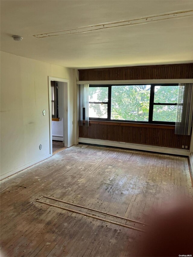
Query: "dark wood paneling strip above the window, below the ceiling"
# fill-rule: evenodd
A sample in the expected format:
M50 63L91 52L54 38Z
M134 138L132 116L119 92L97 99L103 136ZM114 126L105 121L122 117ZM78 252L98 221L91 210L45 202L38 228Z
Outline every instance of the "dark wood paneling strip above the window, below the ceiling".
M78 70L79 80L192 79L193 64L116 67Z

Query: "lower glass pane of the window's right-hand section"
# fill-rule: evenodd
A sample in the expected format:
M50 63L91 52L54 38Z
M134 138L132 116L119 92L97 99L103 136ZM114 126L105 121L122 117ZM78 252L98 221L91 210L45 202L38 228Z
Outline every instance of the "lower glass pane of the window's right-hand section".
M176 105L154 105L153 121L176 121Z

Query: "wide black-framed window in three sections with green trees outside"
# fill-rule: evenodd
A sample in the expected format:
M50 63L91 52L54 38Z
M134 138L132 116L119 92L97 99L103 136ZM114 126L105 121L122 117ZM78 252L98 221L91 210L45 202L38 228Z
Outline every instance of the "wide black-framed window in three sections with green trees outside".
M89 118L174 124L179 84L90 85Z

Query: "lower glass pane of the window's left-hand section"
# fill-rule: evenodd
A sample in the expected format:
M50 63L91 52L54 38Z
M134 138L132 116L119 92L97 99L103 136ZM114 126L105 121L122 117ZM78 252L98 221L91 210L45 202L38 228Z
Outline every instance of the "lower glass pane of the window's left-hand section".
M89 117L107 118L107 104L89 104Z

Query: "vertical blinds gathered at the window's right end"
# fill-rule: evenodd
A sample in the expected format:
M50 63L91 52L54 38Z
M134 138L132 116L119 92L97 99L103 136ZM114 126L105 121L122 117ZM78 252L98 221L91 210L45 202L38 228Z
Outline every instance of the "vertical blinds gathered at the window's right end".
M181 83L178 90L175 134L190 135L193 121L193 84Z

